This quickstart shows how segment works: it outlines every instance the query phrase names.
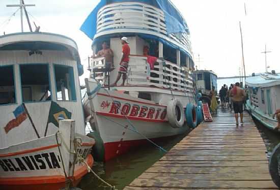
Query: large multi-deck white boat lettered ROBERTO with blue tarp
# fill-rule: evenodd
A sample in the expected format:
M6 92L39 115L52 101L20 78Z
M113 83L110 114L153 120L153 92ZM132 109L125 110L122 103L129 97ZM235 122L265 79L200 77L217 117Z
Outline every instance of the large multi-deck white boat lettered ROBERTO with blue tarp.
M93 54L103 41L114 52L115 69L104 68L104 57L90 61L84 103L105 161L147 139L172 137L197 125L189 30L170 1L102 0L81 30L93 40ZM106 72L111 81L117 78L124 36L130 46L128 78L125 85L107 87Z

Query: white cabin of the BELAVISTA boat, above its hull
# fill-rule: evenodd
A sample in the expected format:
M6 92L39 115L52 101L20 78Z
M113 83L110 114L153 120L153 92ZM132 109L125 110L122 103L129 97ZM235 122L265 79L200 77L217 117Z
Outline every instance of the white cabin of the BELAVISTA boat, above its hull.
M58 117L75 119L76 133L85 134L82 72L70 38L50 33L0 36L0 148L56 133Z

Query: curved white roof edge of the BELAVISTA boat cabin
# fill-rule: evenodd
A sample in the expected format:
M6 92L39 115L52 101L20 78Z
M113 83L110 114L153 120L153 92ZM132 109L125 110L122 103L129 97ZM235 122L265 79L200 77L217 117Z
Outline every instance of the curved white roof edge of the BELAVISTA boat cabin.
M0 51L4 50L68 50L77 61L79 75L83 73L78 47L74 40L53 33L13 33L0 36Z

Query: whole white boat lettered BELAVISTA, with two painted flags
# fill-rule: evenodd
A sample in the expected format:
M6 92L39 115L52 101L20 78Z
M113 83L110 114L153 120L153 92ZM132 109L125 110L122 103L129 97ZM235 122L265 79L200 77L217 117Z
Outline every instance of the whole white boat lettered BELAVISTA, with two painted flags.
M95 141L85 135L81 74L70 38L0 36L0 189L75 186L93 165Z

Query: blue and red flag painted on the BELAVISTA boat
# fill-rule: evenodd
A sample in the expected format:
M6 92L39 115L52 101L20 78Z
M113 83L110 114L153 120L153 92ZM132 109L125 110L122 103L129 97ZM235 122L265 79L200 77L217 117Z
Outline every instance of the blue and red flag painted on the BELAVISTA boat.
M11 121L9 121L8 124L4 128L6 134L8 134L9 131L12 130L13 128L15 128L16 126L19 126L20 123L22 123L27 118L27 114L26 114L22 104L20 106L18 106L15 109L15 111L13 111L13 114L15 116L15 119L12 119Z

